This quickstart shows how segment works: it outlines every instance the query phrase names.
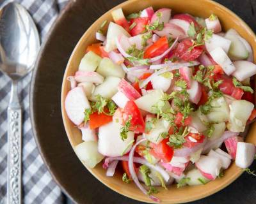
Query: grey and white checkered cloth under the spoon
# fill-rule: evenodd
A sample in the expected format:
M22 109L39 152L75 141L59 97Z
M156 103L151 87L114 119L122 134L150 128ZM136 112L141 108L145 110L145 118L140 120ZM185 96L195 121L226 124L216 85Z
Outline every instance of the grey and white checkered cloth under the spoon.
M41 40L51 28L59 11L68 0L17 0L22 4L38 27ZM0 8L8 1L0 0ZM58 204L63 202L60 188L54 183L36 147L29 118L29 82L31 73L19 82L20 102L23 107L23 201L25 204ZM0 204L6 203L7 184L7 107L10 99L11 82L0 73Z

